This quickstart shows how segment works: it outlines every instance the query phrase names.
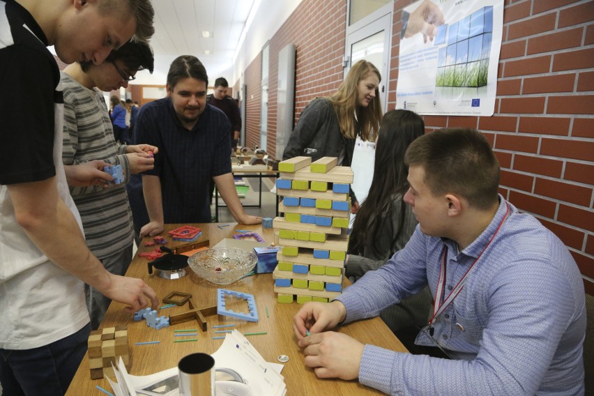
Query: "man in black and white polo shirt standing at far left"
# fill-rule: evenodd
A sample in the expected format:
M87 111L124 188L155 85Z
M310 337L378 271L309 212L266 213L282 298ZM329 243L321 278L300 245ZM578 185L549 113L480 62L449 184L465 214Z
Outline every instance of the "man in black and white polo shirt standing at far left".
M60 73L100 64L132 35L153 35L149 0L0 0L0 385L4 395L66 393L89 338L84 283L127 305L158 298L113 275L86 248L68 183L105 183L105 162L62 164Z

